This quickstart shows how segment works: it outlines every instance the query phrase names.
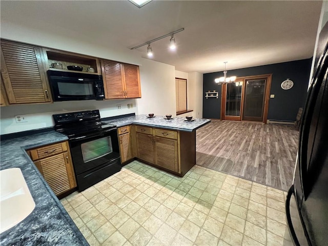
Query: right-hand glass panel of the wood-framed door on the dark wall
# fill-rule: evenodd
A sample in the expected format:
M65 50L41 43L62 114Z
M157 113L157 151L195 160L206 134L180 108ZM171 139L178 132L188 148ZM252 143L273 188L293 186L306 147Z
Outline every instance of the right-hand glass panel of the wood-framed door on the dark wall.
M246 79L242 120L263 121L267 79Z

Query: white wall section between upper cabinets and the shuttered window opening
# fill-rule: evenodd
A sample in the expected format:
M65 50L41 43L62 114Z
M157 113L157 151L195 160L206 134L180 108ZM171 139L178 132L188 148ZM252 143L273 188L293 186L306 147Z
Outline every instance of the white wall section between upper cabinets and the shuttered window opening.
M141 58L141 64L141 98L136 99L138 114L175 116L174 66L145 58Z

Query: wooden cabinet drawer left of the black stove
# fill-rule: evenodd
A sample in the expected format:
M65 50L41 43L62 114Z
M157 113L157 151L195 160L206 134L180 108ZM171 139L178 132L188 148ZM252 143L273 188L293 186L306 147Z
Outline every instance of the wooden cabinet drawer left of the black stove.
M47 145L44 147L29 150L28 153L32 160L42 159L48 156L56 155L67 151L66 142L59 142L58 144Z

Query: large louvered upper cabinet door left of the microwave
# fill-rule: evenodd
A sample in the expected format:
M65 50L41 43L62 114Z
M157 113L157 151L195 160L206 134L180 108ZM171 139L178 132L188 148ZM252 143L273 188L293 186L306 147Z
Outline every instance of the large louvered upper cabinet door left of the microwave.
M1 40L1 75L9 104L50 102L38 47Z

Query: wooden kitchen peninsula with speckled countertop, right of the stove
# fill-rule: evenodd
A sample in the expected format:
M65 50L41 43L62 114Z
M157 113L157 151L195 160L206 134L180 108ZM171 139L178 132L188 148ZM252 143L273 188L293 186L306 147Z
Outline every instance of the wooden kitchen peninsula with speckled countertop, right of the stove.
M122 162L136 158L183 177L196 164L196 129L210 121L136 115L105 122L118 127Z

